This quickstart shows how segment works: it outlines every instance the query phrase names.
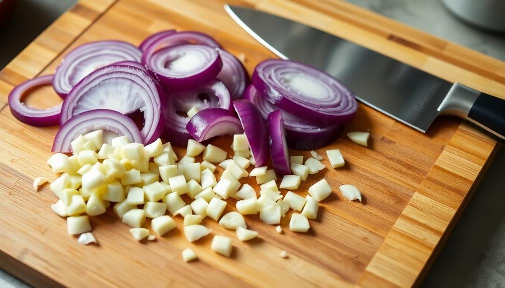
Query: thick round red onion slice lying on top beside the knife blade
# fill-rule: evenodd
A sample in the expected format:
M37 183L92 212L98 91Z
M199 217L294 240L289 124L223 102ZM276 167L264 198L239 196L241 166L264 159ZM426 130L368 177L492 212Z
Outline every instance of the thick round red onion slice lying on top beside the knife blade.
M270 103L318 125L345 124L358 109L354 94L338 80L292 60L259 63L252 84Z

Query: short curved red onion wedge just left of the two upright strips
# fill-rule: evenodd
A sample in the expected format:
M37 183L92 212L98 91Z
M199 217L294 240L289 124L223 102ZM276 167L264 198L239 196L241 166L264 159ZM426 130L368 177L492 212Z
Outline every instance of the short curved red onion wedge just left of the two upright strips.
M198 141L215 136L241 134L242 124L233 112L221 108L204 109L196 113L186 125L186 129Z

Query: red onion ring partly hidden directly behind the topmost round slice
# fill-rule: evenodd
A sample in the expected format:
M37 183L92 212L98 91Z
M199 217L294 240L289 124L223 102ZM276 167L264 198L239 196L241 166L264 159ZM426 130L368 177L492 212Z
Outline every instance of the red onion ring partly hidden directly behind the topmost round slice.
M195 31L182 31L172 33L173 30L162 31L154 34L153 36L142 42L142 64L150 62L151 56L164 47L182 45L182 44L200 44L209 47L219 48L219 43L209 35ZM148 42L148 43L147 43Z

